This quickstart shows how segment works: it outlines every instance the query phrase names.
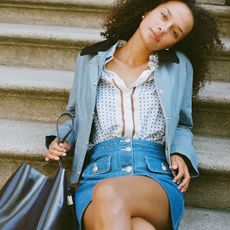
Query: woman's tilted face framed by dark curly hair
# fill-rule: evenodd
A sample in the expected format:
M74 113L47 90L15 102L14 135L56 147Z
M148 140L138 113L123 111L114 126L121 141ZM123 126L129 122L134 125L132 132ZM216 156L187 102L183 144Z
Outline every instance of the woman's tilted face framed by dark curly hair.
M193 15L186 4L169 1L147 12L139 30L151 51L172 47L182 40L193 27Z

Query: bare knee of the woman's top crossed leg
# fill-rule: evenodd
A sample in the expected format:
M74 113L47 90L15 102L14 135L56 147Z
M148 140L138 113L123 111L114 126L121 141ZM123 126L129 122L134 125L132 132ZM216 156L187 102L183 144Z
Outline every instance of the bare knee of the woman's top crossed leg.
M121 214L125 211L125 207L118 191L119 188L109 179L97 183L93 191L92 202L94 203L94 207L97 210L105 210L107 214Z

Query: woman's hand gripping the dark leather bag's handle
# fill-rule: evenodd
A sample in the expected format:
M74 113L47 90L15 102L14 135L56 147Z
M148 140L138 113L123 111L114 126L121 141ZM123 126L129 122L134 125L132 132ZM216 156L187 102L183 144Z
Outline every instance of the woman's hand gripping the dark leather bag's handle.
M49 145L49 149L45 154L45 161L59 160L59 157L65 157L66 153L71 149L71 145L65 141L63 144L58 144L58 140L54 139Z

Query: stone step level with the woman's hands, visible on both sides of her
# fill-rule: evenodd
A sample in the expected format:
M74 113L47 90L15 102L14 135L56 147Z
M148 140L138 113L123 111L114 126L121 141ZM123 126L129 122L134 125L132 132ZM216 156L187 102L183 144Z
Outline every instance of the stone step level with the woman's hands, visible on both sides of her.
M22 161L33 164L43 161L46 151L44 137L53 129L54 123L0 119L0 187ZM195 136L194 144L203 179L192 181L186 193L187 204L206 208L229 208L229 139ZM223 180L219 180L221 176ZM214 186L210 189L212 185Z

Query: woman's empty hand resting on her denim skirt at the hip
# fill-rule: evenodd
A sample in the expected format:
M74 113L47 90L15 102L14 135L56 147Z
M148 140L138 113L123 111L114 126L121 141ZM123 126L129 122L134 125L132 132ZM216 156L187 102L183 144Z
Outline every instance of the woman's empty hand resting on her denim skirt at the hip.
M181 190L181 192L185 192L188 189L189 183L190 183L190 175L188 166L186 165L184 159L178 155L172 155L172 165L170 166L170 169L172 171L176 171L177 176L173 179L173 182L178 182L181 180L181 184L178 186L178 188Z

